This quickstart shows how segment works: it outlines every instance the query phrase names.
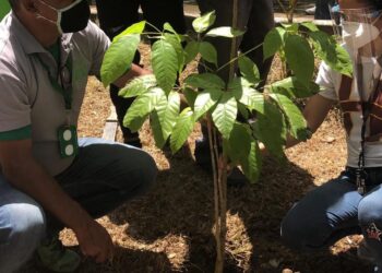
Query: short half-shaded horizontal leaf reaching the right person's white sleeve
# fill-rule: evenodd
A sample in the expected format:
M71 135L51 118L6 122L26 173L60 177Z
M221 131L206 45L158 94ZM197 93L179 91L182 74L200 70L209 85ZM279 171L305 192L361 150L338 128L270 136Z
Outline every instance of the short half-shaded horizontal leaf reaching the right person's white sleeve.
M310 82L309 86L300 83L296 76L289 76L271 84L271 92L288 96L290 98L310 97L320 92L320 86Z

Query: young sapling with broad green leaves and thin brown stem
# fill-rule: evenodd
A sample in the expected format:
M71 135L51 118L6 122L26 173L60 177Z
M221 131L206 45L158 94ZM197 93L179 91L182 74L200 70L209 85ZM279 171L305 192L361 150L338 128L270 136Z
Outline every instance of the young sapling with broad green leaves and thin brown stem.
M240 166L249 180L256 181L262 165L260 142L276 158L284 161L288 134L299 140L310 136L306 120L294 100L309 97L320 90L312 82L314 56L348 75L351 74L351 62L335 39L314 24L282 25L267 34L264 57L278 52L293 75L259 88L260 74L252 60L246 57L248 52L238 57L232 52L229 63L217 67L216 49L205 38L219 36L232 38L235 43L242 32L228 26L211 28L215 19L214 12L195 19L192 24L194 36L179 35L169 24L157 33L145 33L145 22L130 26L114 39L106 52L102 80L107 86L130 68L143 36L156 40L151 56L154 74L136 78L120 90L123 97L136 97L123 122L132 131L138 131L150 118L156 145L162 149L169 142L176 153L195 122L206 121L215 186L215 270L223 272L227 168ZM206 72L190 74L182 84L177 84L178 74L198 56ZM235 62L238 62L240 75L234 73ZM225 82L217 72L227 66L230 66L231 73ZM188 105L183 109L180 107L181 97ZM252 122L239 122L238 114L252 118ZM222 152L218 146L222 146Z

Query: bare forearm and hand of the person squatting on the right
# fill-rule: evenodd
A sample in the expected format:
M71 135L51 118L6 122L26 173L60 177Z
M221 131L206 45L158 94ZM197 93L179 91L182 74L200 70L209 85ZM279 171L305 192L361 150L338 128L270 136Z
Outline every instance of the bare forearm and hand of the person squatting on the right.
M307 126L312 133L314 133L317 129L319 129L334 103L335 100L323 97L320 94L315 94L314 96L309 98L302 111L302 115L306 118ZM288 135L286 147L294 146L299 142L299 140L296 140L295 138Z

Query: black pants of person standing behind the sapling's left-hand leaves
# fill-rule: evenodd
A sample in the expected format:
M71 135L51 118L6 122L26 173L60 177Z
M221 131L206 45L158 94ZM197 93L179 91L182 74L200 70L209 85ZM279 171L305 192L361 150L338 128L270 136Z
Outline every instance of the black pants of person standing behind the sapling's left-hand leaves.
M143 11L143 19L155 27L163 29L168 22L178 33L186 33L182 0L96 0L100 28L112 39L128 26L140 21L139 7ZM153 31L147 27L147 31ZM136 54L134 63L140 63L140 55ZM116 107L118 121L124 139L138 136L123 127L123 117L134 98L118 96L119 88L110 86L110 97Z

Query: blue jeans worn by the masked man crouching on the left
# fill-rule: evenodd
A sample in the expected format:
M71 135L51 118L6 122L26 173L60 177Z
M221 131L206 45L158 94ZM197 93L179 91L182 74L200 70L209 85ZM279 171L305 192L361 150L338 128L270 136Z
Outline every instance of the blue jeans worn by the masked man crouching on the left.
M145 152L102 139L81 139L80 154L56 178L93 217L99 217L152 186L157 168ZM0 174L0 272L27 261L40 240L63 227Z

